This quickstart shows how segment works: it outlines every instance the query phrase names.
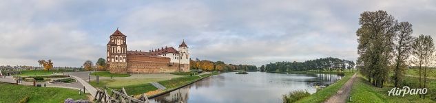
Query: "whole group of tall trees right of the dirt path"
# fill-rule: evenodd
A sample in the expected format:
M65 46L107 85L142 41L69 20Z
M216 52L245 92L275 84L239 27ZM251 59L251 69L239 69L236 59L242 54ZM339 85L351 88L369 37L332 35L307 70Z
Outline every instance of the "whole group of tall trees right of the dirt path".
M398 87L404 80L405 69L414 65L419 69L419 88L426 87L427 69L435 58L431 36L411 36L411 23L398 22L383 10L363 12L359 25L356 32L359 43L357 67L369 82L375 87L383 87L388 81L388 74L393 72L391 79Z

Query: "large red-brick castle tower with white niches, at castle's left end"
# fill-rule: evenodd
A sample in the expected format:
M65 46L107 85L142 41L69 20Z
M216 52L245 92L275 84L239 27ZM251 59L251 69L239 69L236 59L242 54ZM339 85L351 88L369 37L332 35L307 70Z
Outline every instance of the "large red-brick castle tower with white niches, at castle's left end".
M127 44L126 37L118 31L110 35L109 43L107 43L107 65L110 73L127 73Z

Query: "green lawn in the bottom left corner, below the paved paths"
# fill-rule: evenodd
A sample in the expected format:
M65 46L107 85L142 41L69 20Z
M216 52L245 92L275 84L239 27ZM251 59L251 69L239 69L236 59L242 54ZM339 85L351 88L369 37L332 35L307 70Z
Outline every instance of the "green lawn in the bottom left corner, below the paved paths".
M86 100L86 95L79 95L79 90L52 87L31 87L27 85L12 85L0 83L0 102L18 102L29 96L28 102L63 102L67 98ZM87 93L89 95L89 93Z

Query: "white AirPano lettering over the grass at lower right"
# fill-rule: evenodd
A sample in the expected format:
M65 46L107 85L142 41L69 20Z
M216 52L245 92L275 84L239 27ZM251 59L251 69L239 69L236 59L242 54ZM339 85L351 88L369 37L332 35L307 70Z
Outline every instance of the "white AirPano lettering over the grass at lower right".
M393 88L391 89L391 91L388 91L388 95L391 96L399 96L402 95L404 97L404 95L417 95L417 94L426 94L427 93L427 88L424 89L411 89L410 87L403 87L403 89L400 88Z

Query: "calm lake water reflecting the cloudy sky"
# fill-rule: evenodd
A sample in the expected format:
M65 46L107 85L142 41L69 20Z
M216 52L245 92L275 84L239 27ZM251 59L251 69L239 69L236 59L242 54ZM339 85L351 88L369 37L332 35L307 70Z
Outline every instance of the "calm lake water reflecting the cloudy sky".
M282 102L295 90L315 93L315 84L328 85L342 76L335 74L221 73L150 99L151 102Z

